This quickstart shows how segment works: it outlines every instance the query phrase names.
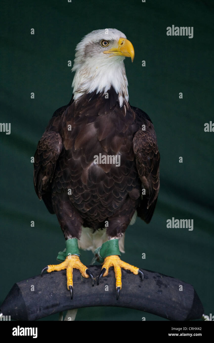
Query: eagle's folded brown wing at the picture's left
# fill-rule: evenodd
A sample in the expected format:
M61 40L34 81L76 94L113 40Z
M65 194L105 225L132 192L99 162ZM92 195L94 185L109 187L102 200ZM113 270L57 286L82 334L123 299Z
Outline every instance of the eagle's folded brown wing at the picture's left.
M40 200L43 199L50 213L54 213L50 184L62 147L62 138L58 132L45 131L38 142L34 155L34 188L37 196Z

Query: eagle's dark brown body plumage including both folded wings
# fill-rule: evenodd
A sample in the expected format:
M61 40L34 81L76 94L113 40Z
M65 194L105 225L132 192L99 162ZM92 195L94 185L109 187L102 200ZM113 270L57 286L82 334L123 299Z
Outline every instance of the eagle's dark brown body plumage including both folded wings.
M108 93L109 99L96 92L71 99L54 113L37 146L35 190L66 239L80 238L81 225L96 230L105 221L108 236L121 237L135 210L149 223L155 209L160 156L153 124L127 102L120 107L113 88ZM94 164L100 153L120 155L120 166Z

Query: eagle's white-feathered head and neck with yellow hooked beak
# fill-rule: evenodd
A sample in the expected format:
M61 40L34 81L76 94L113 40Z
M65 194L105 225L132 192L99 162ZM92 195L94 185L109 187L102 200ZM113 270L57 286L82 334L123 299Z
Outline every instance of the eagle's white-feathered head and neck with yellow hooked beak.
M95 30L86 35L76 47L72 87L74 99L96 91L107 92L112 86L120 106L128 101L128 82L123 60L134 59L134 48L126 36L115 28Z

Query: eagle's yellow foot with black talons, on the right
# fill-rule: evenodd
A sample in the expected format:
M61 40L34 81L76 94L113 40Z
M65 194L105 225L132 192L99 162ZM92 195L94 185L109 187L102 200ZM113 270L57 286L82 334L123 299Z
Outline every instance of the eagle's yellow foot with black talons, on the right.
M100 279L102 276L107 276L109 274L109 268L114 267L114 274L116 277L116 291L117 291L117 300L119 299L120 295L120 289L122 288L122 281L121 281L121 268L130 270L135 275L140 274L141 279L143 280L144 274L142 270L140 270L137 267L134 267L134 265L128 264L120 259L118 255L111 255L107 256L104 259L103 266L101 273L99 275L97 284L99 285Z

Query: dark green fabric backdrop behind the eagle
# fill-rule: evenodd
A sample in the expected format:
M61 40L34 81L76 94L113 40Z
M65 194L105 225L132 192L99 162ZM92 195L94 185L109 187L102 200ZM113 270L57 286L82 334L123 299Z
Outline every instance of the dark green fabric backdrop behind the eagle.
M73 62L77 43L94 29L113 27L134 46L134 62L125 60L129 100L151 117L161 154L155 214L149 225L137 219L129 226L123 258L192 284L205 313L213 313L214 132L204 132L204 123L214 122L213 1L2 0L1 7L0 121L11 123L11 134L0 132L0 304L15 282L55 263L65 246L56 216L34 191L31 156L53 112L71 98L67 61ZM193 26L193 38L167 36L172 25ZM172 217L193 219L193 231L167 228ZM91 258L82 252L83 263ZM164 320L107 307L80 309L76 319L142 317Z

